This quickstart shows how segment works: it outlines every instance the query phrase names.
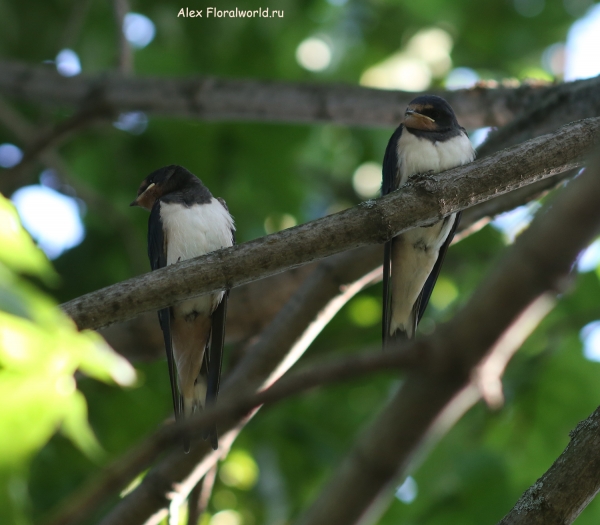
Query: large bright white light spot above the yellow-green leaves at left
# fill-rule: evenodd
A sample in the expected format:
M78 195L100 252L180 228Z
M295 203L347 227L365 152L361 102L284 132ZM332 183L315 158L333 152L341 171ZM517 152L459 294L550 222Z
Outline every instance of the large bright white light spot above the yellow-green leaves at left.
M79 206L67 197L45 186L25 186L12 196L25 229L50 259L77 246L85 237Z

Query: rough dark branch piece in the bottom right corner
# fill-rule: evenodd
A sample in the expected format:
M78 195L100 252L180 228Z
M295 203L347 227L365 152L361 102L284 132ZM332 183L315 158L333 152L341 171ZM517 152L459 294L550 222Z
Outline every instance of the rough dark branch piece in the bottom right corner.
M600 174L598 174L600 175ZM569 525L600 491L600 407L498 525Z

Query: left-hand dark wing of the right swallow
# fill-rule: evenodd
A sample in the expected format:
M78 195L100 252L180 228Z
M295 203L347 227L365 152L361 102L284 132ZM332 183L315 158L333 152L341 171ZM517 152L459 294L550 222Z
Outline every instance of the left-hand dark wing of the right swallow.
M398 141L402 135L404 126L400 124L394 131L385 148L383 157L383 177L381 182L381 196L387 195L396 189L396 181L398 178ZM382 341L385 342L389 336L390 315L391 315L391 295L390 295L390 280L392 272L392 242L389 240L383 248L383 315L381 317Z

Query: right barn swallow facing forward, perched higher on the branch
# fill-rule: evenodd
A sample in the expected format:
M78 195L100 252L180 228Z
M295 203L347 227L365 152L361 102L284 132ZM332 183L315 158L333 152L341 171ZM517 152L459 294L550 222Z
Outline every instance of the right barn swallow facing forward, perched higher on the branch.
M443 98L424 95L406 109L383 159L381 194L416 174L439 173L475 158L467 132ZM383 343L412 339L427 307L460 212L406 231L385 244L383 265Z

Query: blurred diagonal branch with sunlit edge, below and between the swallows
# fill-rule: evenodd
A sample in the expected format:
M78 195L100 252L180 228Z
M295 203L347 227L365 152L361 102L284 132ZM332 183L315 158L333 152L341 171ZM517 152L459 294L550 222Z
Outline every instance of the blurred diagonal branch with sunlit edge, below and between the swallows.
M369 253L365 254L365 251ZM381 253L363 248L336 255L316 265L303 286L246 352L234 373L227 377L220 396L221 403L228 400L237 403L240 396L252 395L262 385L285 373L339 308L369 284L369 270L377 266L381 257ZM361 368L366 370L368 367L361 365ZM235 417L222 422L219 425L220 441L231 443L242 425L243 422ZM141 468L139 458L139 451L128 455L119 461L118 468L106 472L91 489L75 494L58 511L52 524L77 523L81 516L89 514L103 498L114 494L139 472L136 470ZM147 459L147 456L142 454L142 458ZM178 499L184 498L216 459L205 443L193 447L188 456L172 453L148 473L140 486L107 516L105 522L131 525L145 523L148 516L163 515L169 505L168 498L174 494Z

